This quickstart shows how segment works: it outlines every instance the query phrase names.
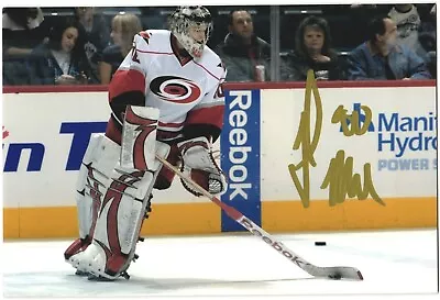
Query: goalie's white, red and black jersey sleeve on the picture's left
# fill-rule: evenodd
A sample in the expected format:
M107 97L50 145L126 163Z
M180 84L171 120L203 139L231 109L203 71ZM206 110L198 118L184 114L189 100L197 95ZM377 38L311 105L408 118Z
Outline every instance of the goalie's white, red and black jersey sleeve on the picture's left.
M123 122L127 105L144 105L145 79L150 64L150 33L140 32L133 38L133 47L125 56L109 85L109 102L112 118Z

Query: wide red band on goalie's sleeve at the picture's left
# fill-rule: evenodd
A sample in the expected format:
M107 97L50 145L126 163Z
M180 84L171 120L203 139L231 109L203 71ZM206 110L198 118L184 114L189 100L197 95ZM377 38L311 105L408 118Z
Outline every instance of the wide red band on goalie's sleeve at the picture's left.
M145 93L145 77L135 69L117 70L109 85L109 99L128 91Z

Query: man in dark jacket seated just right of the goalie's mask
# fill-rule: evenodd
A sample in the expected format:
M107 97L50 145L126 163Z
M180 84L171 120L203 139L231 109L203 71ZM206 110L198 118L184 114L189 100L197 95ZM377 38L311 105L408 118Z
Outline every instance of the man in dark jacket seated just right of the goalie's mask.
M265 81L270 78L271 45L254 34L251 14L233 10L229 14L229 33L216 53L228 69L227 81ZM264 67L264 78L258 69Z

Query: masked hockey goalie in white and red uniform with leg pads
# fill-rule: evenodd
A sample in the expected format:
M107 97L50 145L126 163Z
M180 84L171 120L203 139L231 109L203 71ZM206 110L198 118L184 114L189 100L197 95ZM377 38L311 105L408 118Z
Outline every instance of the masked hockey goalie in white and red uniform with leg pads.
M211 30L206 8L180 7L169 16L169 31L135 35L109 86L106 134L91 136L78 175L79 238L64 253L77 275L129 277L152 190L174 179L156 155L209 192L224 191L211 145L222 127L226 69L206 45Z

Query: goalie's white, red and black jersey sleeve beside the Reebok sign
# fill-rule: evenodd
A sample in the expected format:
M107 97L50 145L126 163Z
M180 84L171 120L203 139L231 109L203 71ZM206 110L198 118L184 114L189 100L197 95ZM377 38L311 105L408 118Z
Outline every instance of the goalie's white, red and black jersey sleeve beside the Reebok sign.
M218 138L223 127L224 95L223 82L226 69L219 73L219 78L212 89L207 92L204 99L188 112L184 127L186 138L207 136L213 141Z

